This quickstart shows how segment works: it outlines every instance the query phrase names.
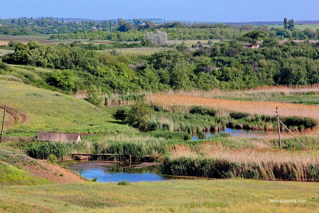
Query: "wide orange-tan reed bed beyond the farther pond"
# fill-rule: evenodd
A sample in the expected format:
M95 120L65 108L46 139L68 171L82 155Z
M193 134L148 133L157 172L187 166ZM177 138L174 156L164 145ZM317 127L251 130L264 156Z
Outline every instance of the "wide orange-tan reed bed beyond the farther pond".
M146 96L146 100L151 105L158 105L166 110L173 111L180 109L189 111L194 106L202 108L212 108L217 110L220 116L227 115L232 112L241 112L251 115L276 115L276 107L279 107L279 115L283 117L302 117L313 118L319 120L319 106L290 104L278 102L255 102L255 101L236 101L225 99L213 99L194 97L187 95L160 95L153 94Z

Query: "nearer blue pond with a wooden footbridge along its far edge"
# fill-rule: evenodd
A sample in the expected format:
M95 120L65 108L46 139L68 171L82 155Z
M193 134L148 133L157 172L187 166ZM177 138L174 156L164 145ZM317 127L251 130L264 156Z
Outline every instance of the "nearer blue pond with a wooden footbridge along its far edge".
M60 164L69 167L70 170L77 171L85 178L93 179L96 177L97 182L118 182L120 180L138 182L168 179L160 175L160 165L154 163L68 161Z

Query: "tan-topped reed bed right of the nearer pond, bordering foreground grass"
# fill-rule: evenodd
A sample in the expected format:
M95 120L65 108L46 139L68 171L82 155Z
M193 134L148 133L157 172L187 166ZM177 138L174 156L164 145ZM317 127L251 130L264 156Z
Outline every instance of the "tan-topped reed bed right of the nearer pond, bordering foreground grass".
M319 181L317 152L233 149L222 143L171 147L163 167L170 175Z

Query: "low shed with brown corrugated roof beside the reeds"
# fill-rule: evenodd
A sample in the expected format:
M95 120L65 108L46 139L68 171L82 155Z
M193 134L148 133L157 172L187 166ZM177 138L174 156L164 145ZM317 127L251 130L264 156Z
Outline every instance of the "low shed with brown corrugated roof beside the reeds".
M40 131L37 137L38 141L65 141L77 142L82 141L79 133L52 133Z

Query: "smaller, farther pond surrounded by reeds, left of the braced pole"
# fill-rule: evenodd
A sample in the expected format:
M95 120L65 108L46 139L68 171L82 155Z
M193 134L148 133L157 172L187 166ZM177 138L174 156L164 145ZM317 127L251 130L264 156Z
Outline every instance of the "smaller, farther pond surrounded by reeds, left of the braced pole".
M239 136L239 137L259 137L262 138L267 131L265 130L253 130L253 129L233 129L233 128L226 128L225 130L220 131L205 131L203 132L206 136L206 139L212 136L218 136L220 133L228 133L231 136ZM193 140L198 140L198 134L192 133Z

